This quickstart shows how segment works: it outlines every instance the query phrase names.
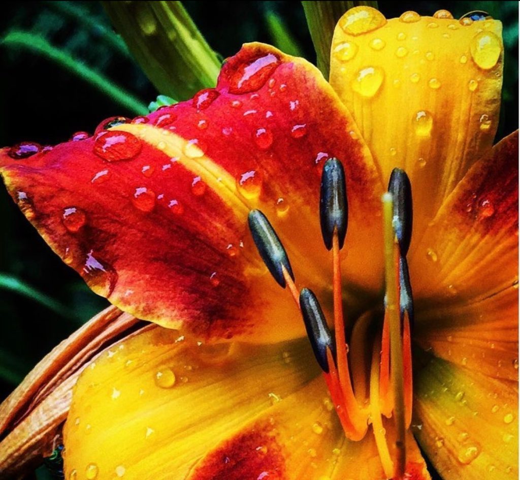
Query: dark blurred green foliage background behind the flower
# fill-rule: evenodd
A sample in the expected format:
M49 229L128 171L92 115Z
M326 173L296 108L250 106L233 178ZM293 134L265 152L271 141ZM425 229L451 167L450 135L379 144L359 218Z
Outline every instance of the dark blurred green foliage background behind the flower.
M113 115L135 116L85 79L97 75L140 105L159 93L141 72L98 2L7 2L0 19L0 145L22 140L56 144L93 132ZM222 58L244 42L292 49L315 61L300 2L184 2ZM459 18L486 10L504 24L503 107L497 138L518 125L518 2L379 2L387 18L405 10ZM281 33L290 32L290 42ZM21 33L20 33L21 32ZM29 36L28 36L29 35ZM34 36L50 45L38 51ZM50 52L50 55L49 55ZM60 61L56 61L59 57ZM79 62L83 73L65 68ZM103 82L105 82L103 84ZM182 100L180 98L179 100ZM0 399L58 342L107 305L86 288L25 220L0 188Z

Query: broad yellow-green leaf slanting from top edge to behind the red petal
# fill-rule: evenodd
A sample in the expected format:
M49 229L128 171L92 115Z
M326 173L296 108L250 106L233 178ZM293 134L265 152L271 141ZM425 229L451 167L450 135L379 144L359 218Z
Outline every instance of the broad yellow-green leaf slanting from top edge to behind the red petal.
M103 2L155 87L187 99L216 84L220 62L180 2Z

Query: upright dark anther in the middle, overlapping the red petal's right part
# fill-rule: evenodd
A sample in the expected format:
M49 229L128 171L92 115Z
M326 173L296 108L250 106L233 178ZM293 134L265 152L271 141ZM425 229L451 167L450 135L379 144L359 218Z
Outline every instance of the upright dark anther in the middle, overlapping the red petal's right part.
M328 250L332 249L334 232L337 232L340 249L347 233L348 203L345 171L342 163L329 159L323 166L320 191L321 235Z

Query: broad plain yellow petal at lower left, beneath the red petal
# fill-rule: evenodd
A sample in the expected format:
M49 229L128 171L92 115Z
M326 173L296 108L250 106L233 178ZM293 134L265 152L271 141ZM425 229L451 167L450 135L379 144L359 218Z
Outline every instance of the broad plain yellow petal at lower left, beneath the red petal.
M319 374L306 339L209 346L155 327L111 352L76 384L63 430L66 478L185 478Z

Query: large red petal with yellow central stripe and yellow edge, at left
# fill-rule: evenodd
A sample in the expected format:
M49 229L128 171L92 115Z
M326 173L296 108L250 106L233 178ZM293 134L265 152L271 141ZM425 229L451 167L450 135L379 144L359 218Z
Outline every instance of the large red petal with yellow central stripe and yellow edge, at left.
M348 268L359 284L377 288L380 249L361 251L379 228L381 186L348 112L309 63L246 45L225 63L216 89L134 122L109 132L101 125L92 138L28 158L0 151L22 211L114 305L167 327L186 322L205 339L303 335L246 216L262 209L297 280L327 290L318 196L330 156L344 161L350 180Z

